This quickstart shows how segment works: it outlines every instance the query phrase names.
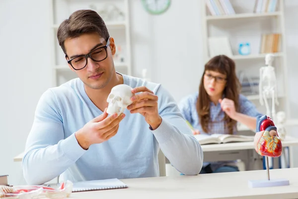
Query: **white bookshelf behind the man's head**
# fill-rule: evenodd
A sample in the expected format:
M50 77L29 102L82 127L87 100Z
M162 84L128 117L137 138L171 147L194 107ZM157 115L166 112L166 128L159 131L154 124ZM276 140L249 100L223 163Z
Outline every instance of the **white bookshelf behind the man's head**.
M67 61L64 58L65 55L57 40L59 25L77 9L92 9L90 7L91 4L95 5L98 9L113 4L124 13L124 20L104 21L110 36L114 38L117 47L118 45L121 46L121 51L123 53L124 61L114 60L116 71L127 75L132 74L129 0L50 0L53 87L76 78L75 73L69 68ZM98 11L98 9L96 9L96 11Z

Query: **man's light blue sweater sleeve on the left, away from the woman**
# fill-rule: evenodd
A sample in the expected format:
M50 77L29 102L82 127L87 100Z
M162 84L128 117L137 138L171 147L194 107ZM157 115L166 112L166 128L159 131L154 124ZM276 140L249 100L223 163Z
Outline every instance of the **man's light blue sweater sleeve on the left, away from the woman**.
M84 154L74 134L64 138L61 110L54 93L48 90L37 104L22 161L24 178L29 185L56 178Z

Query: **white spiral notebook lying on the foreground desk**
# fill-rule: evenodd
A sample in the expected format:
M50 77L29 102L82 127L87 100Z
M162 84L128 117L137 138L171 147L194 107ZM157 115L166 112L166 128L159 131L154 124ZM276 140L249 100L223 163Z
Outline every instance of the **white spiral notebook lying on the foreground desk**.
M93 180L76 182L73 186L73 192L96 191L96 190L111 190L128 188L123 182L114 179L107 180Z

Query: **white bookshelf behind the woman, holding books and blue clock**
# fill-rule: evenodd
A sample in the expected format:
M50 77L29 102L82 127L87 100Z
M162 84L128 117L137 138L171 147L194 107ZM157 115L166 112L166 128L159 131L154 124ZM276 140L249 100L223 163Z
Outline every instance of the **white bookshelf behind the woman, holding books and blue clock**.
M214 0L214 2L215 1L216 0ZM222 2L222 0L219 1ZM204 63L211 58L209 54L210 49L208 39L210 37L225 36L229 39L229 44L232 50L232 55L229 57L235 61L236 71L245 71L245 74L247 73L248 75L259 77L259 70L260 67L265 66L266 56L266 53L260 53L261 35L280 33L280 50L277 53L274 53L275 57L273 62L278 81L279 105L276 105L276 112L284 110L287 114L287 118L289 118L290 107L287 88L288 69L284 23L284 0L277 0L275 11L258 13L254 11L254 4L257 0L229 0L229 2L235 11L233 14L212 14L208 8L207 0L201 1ZM250 43L251 54L239 55L238 44L240 42ZM249 100L252 100L261 112L266 113L265 106L261 106L259 103L258 93L246 95L246 97ZM271 100L269 100L269 103L271 104Z

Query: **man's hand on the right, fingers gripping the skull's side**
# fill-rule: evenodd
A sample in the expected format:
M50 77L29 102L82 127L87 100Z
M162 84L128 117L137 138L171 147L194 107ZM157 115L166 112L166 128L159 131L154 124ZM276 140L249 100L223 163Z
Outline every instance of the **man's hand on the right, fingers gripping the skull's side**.
M146 122L155 130L161 123L161 117L158 114L158 97L146 87L137 87L132 90L133 94L142 92L132 97L133 103L127 106L131 113L141 113Z

